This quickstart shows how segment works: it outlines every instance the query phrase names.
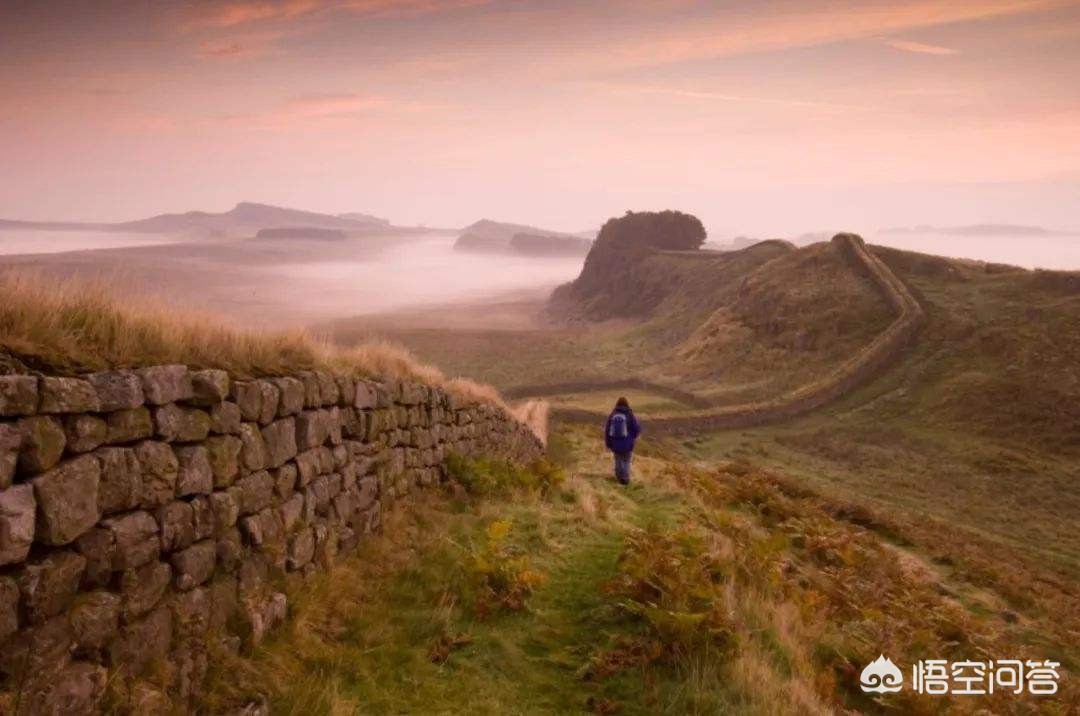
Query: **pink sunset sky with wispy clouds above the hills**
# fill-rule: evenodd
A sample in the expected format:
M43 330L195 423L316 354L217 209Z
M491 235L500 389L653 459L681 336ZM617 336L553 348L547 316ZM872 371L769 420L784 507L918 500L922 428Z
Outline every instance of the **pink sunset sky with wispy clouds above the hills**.
M1080 228L1077 0L0 5L0 216Z

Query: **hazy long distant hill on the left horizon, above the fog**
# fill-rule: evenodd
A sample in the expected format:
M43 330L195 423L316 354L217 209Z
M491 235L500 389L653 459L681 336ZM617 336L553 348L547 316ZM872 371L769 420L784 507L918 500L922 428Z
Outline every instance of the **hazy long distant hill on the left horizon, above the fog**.
M262 229L308 227L348 232L393 231L416 229L392 227L387 219L366 214L320 214L296 208L240 202L228 212L185 212L159 214L134 221L117 224L78 221L15 221L0 219L0 228L38 230L131 231L137 233L189 233L210 238L249 237Z

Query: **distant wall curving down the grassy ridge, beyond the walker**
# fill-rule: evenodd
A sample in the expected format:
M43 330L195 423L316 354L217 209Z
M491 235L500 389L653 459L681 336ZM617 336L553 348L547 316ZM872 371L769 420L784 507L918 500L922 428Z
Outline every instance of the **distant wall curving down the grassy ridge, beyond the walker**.
M895 312L895 320L874 340L820 380L769 401L650 418L647 425L650 431L691 433L702 429L750 428L801 415L835 401L874 379L903 353L926 321L922 306L896 274L866 247L861 237L840 233L832 241L843 253L852 268L874 283ZM627 387L630 382L624 381ZM594 383L591 390L605 390L609 387L617 386ZM647 387L647 383L643 382L639 387ZM686 392L678 389L666 390L672 396L675 396L675 393ZM508 392L515 395L524 394L521 389ZM553 393L548 392L548 394ZM692 402L684 402L693 405ZM553 408L552 416L557 420L588 423L603 422L607 417L606 414L580 408Z

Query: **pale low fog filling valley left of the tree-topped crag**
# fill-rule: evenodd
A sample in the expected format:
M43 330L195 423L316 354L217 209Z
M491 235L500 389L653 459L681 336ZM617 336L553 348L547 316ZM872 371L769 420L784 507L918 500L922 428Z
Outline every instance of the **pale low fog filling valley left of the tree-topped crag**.
M554 288L575 279L583 261L456 252L456 238L446 234L139 242L40 255L62 232L40 233L41 243L25 246L33 255L9 254L0 270L105 281L121 294L269 328ZM93 234L79 248L105 248L113 241L98 242Z

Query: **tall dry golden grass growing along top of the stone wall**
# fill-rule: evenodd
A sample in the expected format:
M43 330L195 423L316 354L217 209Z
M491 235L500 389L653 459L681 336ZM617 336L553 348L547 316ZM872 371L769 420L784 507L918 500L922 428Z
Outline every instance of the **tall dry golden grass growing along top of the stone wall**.
M399 345L367 341L345 349L305 330L238 329L152 298L122 300L93 281L0 276L0 353L9 369L60 375L184 363L239 378L322 369L415 380L517 415L490 386L449 379ZM546 435L545 413L530 409L522 417L538 436Z

